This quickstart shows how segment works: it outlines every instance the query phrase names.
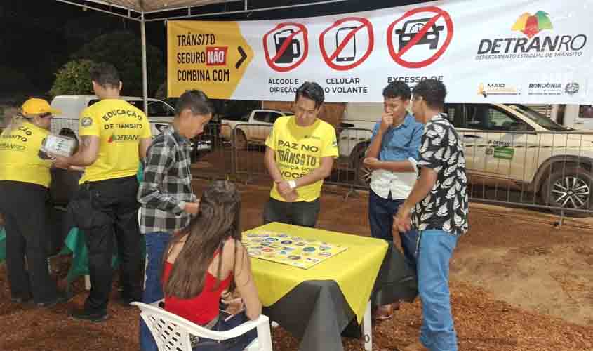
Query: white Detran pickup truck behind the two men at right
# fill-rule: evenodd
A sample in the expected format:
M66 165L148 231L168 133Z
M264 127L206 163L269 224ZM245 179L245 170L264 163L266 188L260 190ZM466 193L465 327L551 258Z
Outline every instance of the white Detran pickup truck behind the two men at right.
M360 113L356 119L380 116L380 104L376 105L375 112ZM592 131L566 128L519 104L446 104L445 112L463 138L469 183L525 189L541 204L561 208L557 212L590 216L571 210L593 210ZM348 119L354 120L354 115ZM351 124L361 126L360 121ZM345 133L341 135L344 139ZM351 158L357 181L368 184L371 171L354 155L364 157L370 137L359 136L347 144L356 145Z

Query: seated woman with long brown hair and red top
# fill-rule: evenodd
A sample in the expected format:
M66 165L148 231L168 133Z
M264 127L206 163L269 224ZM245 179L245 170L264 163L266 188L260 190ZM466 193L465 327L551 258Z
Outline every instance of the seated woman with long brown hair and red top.
M208 186L198 216L166 250L165 310L218 331L260 317L262 304L241 245L240 215L241 199L233 183L217 180ZM221 298L227 313L219 315ZM194 351L240 351L256 336L253 330L222 343L199 338L192 344Z

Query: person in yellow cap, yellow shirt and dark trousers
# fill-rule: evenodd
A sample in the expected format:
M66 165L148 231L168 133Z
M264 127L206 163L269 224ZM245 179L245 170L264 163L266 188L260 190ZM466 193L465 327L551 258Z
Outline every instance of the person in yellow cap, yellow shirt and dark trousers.
M58 291L47 263L51 160L41 159L39 148L49 134L53 114L60 111L46 100L31 98L0 135L0 212L5 221L11 299L24 303L33 298L39 307L68 300L67 294Z

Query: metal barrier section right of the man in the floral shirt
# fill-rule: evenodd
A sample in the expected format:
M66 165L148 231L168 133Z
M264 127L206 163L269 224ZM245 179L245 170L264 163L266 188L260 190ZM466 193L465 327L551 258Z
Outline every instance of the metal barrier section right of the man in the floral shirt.
M458 133L471 200L593 216L593 133Z

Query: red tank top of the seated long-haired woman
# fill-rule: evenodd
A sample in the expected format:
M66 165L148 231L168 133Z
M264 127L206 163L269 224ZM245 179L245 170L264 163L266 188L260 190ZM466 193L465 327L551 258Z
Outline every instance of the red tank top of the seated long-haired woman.
M214 257L218 254L215 253ZM163 269L163 282L166 282L173 269L173 264L165 261ZM206 281L204 289L194 298L176 298L175 296L165 297L165 310L177 314L195 324L206 325L218 316L218 301L222 291L227 289L231 283L232 272L229 276L220 282L218 289L216 286L216 277L206 271Z

